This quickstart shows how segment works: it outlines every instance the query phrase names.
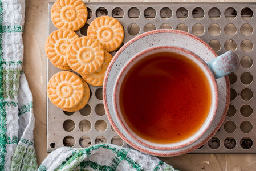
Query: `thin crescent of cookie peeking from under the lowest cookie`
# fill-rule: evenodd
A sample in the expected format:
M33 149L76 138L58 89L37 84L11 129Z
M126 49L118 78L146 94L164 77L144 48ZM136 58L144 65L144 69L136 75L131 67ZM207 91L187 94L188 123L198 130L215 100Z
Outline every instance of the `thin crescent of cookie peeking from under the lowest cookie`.
M81 79L82 80L82 79ZM83 81L83 85L84 85L84 96L82 98L82 100L80 101L80 103L78 103L78 105L76 105L75 107L72 107L72 108L68 108L68 109L63 109L63 111L67 111L67 112L75 112L75 111L79 111L80 109L82 109L86 104L87 102L89 101L89 98L90 98L90 88L88 86L88 84L84 81Z

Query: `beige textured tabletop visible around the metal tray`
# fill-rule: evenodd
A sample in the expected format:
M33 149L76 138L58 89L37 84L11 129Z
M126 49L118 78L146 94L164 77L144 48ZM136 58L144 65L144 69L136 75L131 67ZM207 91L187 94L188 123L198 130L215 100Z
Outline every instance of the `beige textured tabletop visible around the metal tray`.
M114 1L117 2L117 0ZM254 0L251 0L250 2L254 2ZM26 0L25 31L23 33L23 42L25 44L23 70L27 76L32 95L34 97L34 141L38 165L48 155L46 150L47 57L44 53L44 43L47 38L47 5L48 1ZM247 154L185 154L178 157L162 157L161 160L164 160L168 164L173 165L180 170L256 170L256 155Z

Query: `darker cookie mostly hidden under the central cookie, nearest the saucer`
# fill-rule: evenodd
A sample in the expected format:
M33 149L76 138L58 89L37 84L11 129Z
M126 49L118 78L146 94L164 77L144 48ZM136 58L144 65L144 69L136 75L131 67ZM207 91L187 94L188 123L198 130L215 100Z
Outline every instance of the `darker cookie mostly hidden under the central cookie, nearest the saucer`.
M107 71L108 64L111 62L112 58L113 56L105 51L104 62L99 70L95 71L92 74L81 74L82 78L92 86L102 86L105 72Z

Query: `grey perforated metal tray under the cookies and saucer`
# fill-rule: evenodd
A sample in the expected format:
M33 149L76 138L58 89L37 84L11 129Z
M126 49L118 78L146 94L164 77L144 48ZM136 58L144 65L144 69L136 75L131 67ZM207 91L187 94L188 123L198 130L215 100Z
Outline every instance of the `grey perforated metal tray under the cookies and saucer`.
M48 5L48 32L56 30ZM119 19L125 30L124 42L143 32L173 28L188 31L209 43L217 53L233 50L241 67L229 75L231 101L227 117L212 140L192 153L256 153L256 3L86 3L86 25L76 32L86 35L96 17ZM115 52L112 52L114 55ZM47 80L60 70L48 61ZM104 114L102 87L90 86L91 99L80 111L63 112L47 99L47 150L60 146L87 147L98 143L127 146L113 131Z

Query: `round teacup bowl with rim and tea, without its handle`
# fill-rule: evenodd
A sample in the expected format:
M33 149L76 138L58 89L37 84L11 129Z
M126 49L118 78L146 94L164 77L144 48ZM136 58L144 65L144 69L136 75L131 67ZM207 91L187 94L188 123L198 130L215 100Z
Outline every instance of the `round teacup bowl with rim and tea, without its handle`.
M216 114L218 89L208 65L176 46L139 52L121 69L113 105L121 127L152 149L178 149L198 140Z

